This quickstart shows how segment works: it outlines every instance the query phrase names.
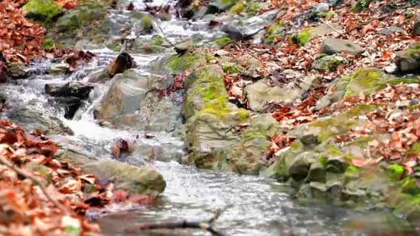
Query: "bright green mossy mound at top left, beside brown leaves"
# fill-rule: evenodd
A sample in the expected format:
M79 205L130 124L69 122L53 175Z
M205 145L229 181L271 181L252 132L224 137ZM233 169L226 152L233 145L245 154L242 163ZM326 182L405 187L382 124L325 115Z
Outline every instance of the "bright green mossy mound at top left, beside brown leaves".
M63 12L52 0L30 0L23 9L26 17L39 23L52 23Z

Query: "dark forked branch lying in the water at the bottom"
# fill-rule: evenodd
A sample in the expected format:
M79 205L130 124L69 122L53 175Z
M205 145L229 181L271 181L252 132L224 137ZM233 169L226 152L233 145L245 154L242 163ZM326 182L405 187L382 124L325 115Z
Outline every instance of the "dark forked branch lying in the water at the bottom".
M222 210L218 210L216 214L207 221L181 220L181 221L167 221L167 222L151 222L151 223L140 224L139 226L136 226L135 228L127 229L126 232L132 233L135 230L153 230L153 229L199 228L199 229L208 231L209 233L211 233L211 235L225 236L225 234L220 232L214 225L218 217L222 215L222 212L225 209L226 208Z

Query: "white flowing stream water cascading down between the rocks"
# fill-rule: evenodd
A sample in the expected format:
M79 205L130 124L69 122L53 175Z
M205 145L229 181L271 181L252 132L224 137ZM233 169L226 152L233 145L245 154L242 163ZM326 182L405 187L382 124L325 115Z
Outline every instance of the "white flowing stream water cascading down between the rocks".
M157 3L159 4L159 3ZM141 1L135 6L142 7ZM124 12L113 12L113 19L124 17ZM254 19L258 21L258 18ZM202 39L211 39L214 34L208 30L198 31L206 21L187 23L173 20L162 23L169 38L199 35ZM195 27L196 26L196 27ZM147 36L145 36L147 37ZM150 36L149 36L150 37ZM106 68L117 53L108 50L94 51L97 57L81 70L66 76L50 76L42 73L50 62L32 65L39 75L32 79L19 80L12 84L1 85L1 91L8 97L12 109L29 107L59 117L75 132L69 139L80 149L98 158L110 158L110 148L117 138L133 139L139 132L115 130L99 126L93 119L93 105L109 87L109 83L95 84L95 89L86 104L80 108L73 120L64 119L64 112L48 102L44 93L46 83L66 83L81 81L94 70ZM133 55L138 69L145 74L146 65L159 55ZM173 144L179 153L184 154L184 146L171 134L157 133L155 139L140 140L149 145ZM142 139L142 135L140 135ZM135 157L131 157L135 159ZM137 160L140 161L141 160ZM131 160L136 162L136 160ZM218 219L217 226L227 235L370 235L387 233L395 228L390 222L395 218L381 212L368 210L348 210L319 202L298 203L293 199L294 190L285 184L261 177L237 175L199 170L184 166L176 161L154 161L146 164L155 168L166 180L166 190L153 206L136 210L126 210L107 215L97 222L106 235L125 235L124 229L132 228L139 222L158 220L204 220L209 219L214 211L229 206ZM390 226L386 228L385 226ZM179 230L164 232L165 235L206 235L200 230ZM389 233L389 232L388 232ZM137 233L139 235L139 233Z

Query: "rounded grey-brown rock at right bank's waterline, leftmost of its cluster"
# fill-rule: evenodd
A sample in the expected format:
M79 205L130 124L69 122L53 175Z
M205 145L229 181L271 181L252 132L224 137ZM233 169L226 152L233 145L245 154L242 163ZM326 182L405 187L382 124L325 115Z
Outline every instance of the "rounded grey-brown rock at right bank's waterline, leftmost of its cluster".
M309 168L316 161L315 153L300 153L293 160L289 167L289 176L296 181L305 179L309 173Z

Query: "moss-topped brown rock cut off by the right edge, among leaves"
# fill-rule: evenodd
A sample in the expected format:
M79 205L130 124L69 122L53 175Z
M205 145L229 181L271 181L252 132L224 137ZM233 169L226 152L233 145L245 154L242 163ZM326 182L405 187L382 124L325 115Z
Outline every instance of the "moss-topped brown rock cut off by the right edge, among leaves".
M413 43L407 50L395 57L400 72L420 72L420 43Z

